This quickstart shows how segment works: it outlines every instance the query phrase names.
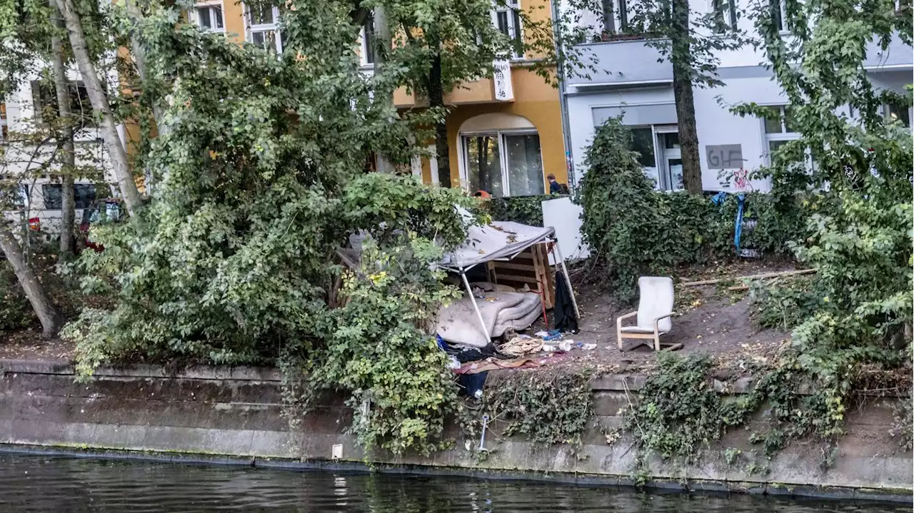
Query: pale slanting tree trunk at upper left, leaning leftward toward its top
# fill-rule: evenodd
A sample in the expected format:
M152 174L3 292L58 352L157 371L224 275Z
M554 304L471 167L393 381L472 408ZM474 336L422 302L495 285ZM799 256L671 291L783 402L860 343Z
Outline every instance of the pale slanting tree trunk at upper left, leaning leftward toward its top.
M55 0L63 15L64 23L69 32L69 45L73 49L73 57L76 58L76 64L80 68L82 81L89 93L89 100L92 104L92 110L95 115L101 119L101 136L108 149L109 158L112 160L114 175L117 178L118 186L121 189L123 203L127 207L127 212L134 216L142 208L143 203L140 198L140 192L133 181L133 173L127 165L127 152L118 134L117 125L114 123L114 115L108 102L108 95L101 86L98 72L95 65L89 58L89 50L86 46L86 36L82 31L80 15L73 6L73 0Z

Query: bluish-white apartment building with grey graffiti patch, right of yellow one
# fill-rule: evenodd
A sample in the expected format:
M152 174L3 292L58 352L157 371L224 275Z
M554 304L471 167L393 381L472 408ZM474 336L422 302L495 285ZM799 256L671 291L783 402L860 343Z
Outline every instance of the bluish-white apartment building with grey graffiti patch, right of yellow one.
M749 0L734 0L736 9L724 4L721 17L728 24L756 34L752 20L736 15L748 9ZM781 0L781 3L783 0ZM682 160L679 150L675 100L673 96L673 67L668 61L658 62L659 51L643 39L619 38L613 35L627 28L630 10L626 0L603 0L604 8L612 13L605 25L602 16L592 16L593 26L602 26L609 37L606 42L582 46L599 59L597 73L590 79L569 79L566 101L569 115L570 152L576 178L587 169L584 156L595 128L609 117L622 115L622 122L632 127L634 150L641 152L645 172L654 177L658 189L682 188ZM714 0L692 0L695 13L707 13L718 4ZM783 9L783 5L781 5ZM781 16L784 19L784 16ZM597 20L597 21L594 21ZM783 27L783 37L790 37ZM601 35L600 35L601 36ZM702 184L706 191L768 191L768 181L746 180L747 173L770 163L770 152L783 141L800 137L787 122L739 117L729 107L745 102L789 109L788 100L773 79L770 70L761 66L764 56L752 47L721 52L717 69L722 87L695 88L698 152L701 158ZM886 50L876 44L867 52L866 68L873 84L880 89L904 92L904 86L914 83L914 48L893 40ZM914 112L909 109L884 106L887 116L909 124Z

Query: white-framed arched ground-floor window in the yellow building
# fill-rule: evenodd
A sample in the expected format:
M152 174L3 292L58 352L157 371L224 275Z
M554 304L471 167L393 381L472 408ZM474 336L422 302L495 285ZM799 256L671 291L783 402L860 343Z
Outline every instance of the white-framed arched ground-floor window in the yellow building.
M545 194L537 133L493 132L462 136L471 191L494 197Z

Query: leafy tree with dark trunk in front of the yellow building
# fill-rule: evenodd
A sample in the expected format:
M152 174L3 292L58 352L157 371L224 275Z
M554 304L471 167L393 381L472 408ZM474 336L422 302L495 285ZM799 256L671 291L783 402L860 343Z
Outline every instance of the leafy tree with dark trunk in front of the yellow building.
M555 21L544 12L547 2L526 6L507 0L363 2L383 9L386 32L393 35L392 41L377 37L377 55L387 61L399 85L420 101L428 101L442 185L452 183L445 97L467 82L493 77L496 61L530 58L537 74L552 83L559 78L557 68L565 75L586 72L590 61L573 45L579 42L580 31L571 28L575 24L570 13L590 2L561 2ZM501 27L493 23L493 9L505 16ZM558 30L560 26L565 29Z

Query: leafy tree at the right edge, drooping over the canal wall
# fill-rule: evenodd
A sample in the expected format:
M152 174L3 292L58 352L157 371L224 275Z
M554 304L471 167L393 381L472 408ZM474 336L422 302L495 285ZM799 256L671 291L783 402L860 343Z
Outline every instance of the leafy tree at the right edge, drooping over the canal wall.
M838 433L856 364L898 363L898 349L910 343L914 138L881 112L884 103L910 105L910 97L877 89L865 62L873 48L909 44L914 18L888 0L788 2L786 11L789 37L781 35L780 10L759 5L752 14L802 133L764 172L781 197L824 187L836 204L811 215L811 236L795 245L798 259L816 268L813 287L822 298L792 342L827 396L829 426ZM735 111L773 115L754 104Z

